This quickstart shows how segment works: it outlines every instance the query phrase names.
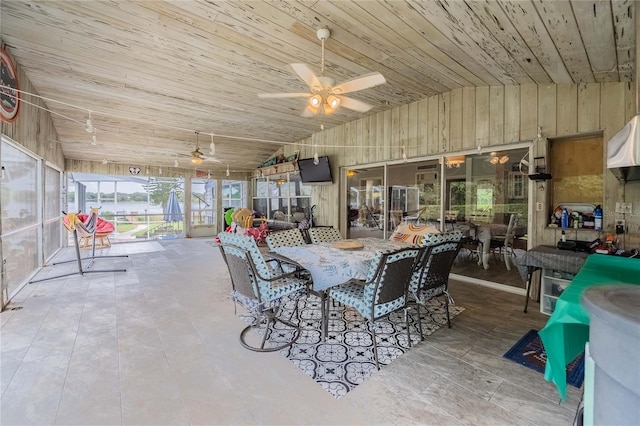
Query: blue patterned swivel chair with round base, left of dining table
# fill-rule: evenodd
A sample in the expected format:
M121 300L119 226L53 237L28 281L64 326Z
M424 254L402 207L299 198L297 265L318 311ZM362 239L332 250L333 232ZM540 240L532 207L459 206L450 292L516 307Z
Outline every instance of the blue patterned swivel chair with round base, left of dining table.
M298 300L307 295L308 281L299 278L297 272L279 273L272 269L250 236L221 232L218 237L231 276L233 301L254 316L253 322L240 332L240 344L257 352L291 346L300 337L299 321L296 324L292 318L298 315ZM280 309L289 302L294 304L291 315L281 318ZM276 323L285 327L276 328ZM249 341L247 334L252 329L256 336L262 336L259 345Z

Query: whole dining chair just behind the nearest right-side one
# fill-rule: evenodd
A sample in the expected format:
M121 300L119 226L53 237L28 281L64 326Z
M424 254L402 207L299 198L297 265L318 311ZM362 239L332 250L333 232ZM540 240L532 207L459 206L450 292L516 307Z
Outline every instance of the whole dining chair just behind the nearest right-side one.
M451 328L449 303L453 303L453 298L449 294L449 273L458 256L461 244L462 232L460 231L429 234L421 241L420 245L426 250L416 264L409 285L409 300L415 302L418 318L421 315L421 306L426 309L429 300L445 296L447 325ZM418 327L420 338L424 340L421 320L418 320Z

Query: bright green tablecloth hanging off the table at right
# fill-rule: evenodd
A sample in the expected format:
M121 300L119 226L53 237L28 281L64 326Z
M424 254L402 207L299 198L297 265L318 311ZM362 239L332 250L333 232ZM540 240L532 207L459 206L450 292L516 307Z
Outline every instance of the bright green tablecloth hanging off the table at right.
M613 284L640 285L640 259L593 254L560 295L556 309L540 330L547 353L545 379L555 383L560 398L567 395L566 366L589 340L589 315L582 306L582 293L589 287Z

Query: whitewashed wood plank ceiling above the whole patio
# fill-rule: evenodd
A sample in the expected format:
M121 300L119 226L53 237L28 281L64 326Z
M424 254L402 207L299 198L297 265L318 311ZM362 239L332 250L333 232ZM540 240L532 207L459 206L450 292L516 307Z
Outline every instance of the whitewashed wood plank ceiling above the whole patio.
M632 81L635 61L632 0L0 3L0 36L49 99L65 157L88 161L195 167L200 131L223 161L207 169L250 170L321 123L362 117L305 118L305 98L257 97L308 91L287 64L319 70L322 27L326 75L385 76L353 93L366 114L465 86Z

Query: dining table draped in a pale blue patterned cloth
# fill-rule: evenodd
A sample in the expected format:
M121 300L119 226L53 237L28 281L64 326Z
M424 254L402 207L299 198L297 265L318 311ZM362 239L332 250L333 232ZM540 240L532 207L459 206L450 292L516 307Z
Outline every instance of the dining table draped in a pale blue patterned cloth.
M312 278L312 292L322 303L322 337L326 338L328 329L327 292L331 287L344 284L349 280L366 280L369 270L374 267L376 252L397 250L409 244L383 240L379 238L357 238L340 240L355 242L356 248L338 248L348 244L323 242L295 247L276 247L267 253L268 257L299 266L309 272Z

